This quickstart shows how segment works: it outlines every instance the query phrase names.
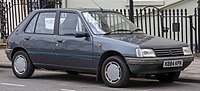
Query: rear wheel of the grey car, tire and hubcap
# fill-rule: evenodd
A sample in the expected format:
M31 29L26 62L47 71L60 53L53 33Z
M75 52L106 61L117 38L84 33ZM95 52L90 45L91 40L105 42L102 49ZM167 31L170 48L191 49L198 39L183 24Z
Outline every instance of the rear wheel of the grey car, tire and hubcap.
M23 79L30 78L33 75L35 67L26 52L18 51L14 54L12 71L16 77Z

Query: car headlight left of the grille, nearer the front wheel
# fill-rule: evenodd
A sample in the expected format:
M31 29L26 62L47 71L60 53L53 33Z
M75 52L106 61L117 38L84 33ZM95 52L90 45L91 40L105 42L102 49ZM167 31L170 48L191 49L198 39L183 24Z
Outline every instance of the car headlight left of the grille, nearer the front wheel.
M152 49L136 49L137 57L156 57L156 54Z

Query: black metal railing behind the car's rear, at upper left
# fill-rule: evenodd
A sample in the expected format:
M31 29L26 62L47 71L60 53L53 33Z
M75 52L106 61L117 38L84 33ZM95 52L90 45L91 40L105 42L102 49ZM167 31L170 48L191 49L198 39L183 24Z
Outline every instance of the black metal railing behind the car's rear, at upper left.
M1 8L1 39L7 38L9 34L22 22L30 12L41 8L61 8L61 0L3 0Z

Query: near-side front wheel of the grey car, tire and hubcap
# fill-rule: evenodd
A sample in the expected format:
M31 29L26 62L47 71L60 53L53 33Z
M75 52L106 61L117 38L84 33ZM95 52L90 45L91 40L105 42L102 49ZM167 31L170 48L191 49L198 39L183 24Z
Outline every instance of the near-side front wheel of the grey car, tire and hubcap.
M120 56L107 58L102 65L101 75L104 83L109 87L125 87L130 80L130 71L125 60Z

